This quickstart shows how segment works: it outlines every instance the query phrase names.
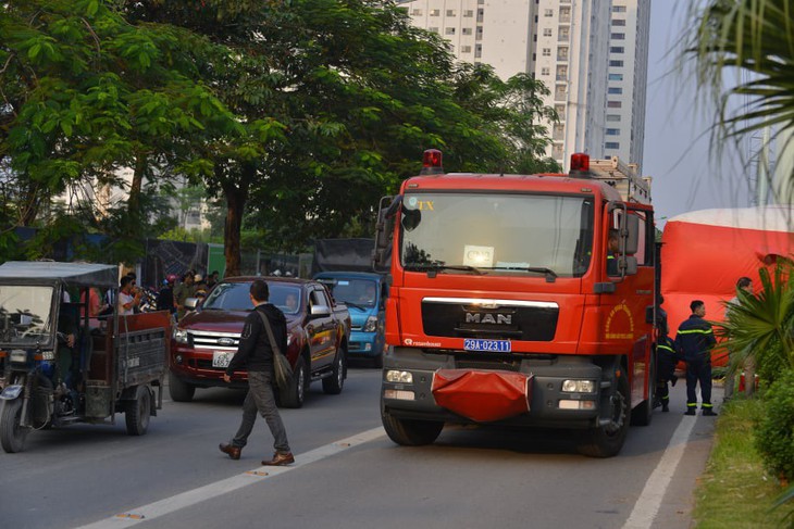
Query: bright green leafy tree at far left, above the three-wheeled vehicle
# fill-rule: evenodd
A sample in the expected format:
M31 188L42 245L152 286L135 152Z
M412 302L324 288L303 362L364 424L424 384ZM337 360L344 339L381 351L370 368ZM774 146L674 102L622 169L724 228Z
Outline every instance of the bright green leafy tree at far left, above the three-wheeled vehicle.
M145 177L162 176L169 162L200 164L200 151L185 148L197 131L235 131L197 75L209 43L189 32L131 25L110 1L32 0L4 2L0 35L0 159L14 181L16 205L5 206L17 225L47 223L39 206L52 197L120 185L119 171L129 167L126 214L109 224L121 229L119 241L140 235ZM83 217L91 218L99 228L101 216ZM46 227L58 237L59 225Z

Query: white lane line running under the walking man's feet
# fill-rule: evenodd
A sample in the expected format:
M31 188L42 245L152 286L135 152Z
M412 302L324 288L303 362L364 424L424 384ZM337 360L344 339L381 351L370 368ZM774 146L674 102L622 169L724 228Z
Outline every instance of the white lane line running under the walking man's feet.
M237 489L241 489L243 487L248 487L249 484L253 483L261 483L264 479L281 476L282 474L286 474L290 470L295 470L302 466L310 465L311 463L315 463L332 455L336 455L339 452L344 452L353 446L358 446L369 441L374 441L375 439L379 439L385 434L386 432L383 430L383 427L362 431L356 433L355 436L348 437L347 439L342 439L331 444L317 448L305 454L297 454L295 456L295 463L289 466L258 466L253 469L246 470L237 476L222 479L220 481L215 481L214 483L209 483L197 489L185 491L171 497L150 503L148 505L131 508L124 513L120 513L117 515L111 516L110 518L104 518L87 526L82 526L77 529L122 529L126 527L132 527L140 524L141 521L147 521L153 518L158 518L160 516L164 516L166 514L174 513L176 511L189 507L191 505L196 505L197 503L210 500L212 497L216 497Z

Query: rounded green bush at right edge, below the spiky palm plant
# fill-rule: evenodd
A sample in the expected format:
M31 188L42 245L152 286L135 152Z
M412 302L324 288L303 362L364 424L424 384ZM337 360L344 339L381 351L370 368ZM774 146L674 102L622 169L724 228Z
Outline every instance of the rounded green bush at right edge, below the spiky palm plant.
M756 445L774 475L794 480L794 369L769 387L764 407Z

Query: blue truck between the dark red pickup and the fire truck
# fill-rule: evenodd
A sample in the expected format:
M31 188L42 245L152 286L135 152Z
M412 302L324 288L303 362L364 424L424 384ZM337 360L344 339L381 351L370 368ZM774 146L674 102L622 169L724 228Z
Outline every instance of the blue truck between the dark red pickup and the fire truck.
M367 272L321 272L314 279L331 290L337 303L345 303L348 307L352 322L348 356L370 358L375 367L381 367L387 276Z

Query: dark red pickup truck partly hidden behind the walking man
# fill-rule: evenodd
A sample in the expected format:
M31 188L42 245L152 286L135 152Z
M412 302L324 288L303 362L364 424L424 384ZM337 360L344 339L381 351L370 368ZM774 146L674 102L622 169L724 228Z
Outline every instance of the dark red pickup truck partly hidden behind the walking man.
M253 308L248 292L255 279L268 282L270 302L287 318L286 355L294 377L287 391L277 392L280 404L302 406L306 390L314 380L322 380L325 393L342 392L350 337L347 307L337 305L318 281L232 277L218 284L174 328L169 374L169 391L174 401L190 401L196 388L247 387L245 371L237 373L232 383L223 381L223 374L237 351L243 323Z

